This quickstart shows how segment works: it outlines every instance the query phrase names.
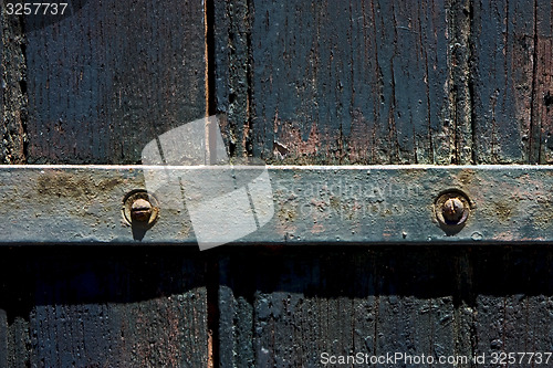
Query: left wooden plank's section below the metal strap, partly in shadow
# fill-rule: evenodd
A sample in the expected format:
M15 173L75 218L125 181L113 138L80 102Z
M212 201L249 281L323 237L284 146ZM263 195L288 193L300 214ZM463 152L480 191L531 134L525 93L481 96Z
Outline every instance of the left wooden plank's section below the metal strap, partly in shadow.
M0 262L4 366L208 366L197 251L4 249Z

